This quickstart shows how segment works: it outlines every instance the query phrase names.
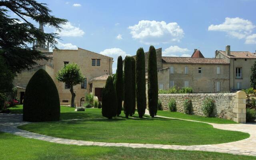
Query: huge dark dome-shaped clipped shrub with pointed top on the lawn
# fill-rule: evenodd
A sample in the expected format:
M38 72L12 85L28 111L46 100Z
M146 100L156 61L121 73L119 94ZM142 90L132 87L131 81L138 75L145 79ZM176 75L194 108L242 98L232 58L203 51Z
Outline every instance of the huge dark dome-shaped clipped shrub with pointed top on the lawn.
M60 120L60 98L56 85L43 69L28 82L23 101L23 120L45 122Z

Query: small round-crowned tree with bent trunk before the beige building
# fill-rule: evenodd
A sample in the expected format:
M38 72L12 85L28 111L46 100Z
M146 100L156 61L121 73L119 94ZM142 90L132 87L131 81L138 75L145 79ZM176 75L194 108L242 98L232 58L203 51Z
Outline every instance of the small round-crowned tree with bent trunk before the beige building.
M56 80L59 82L65 82L66 85L70 86L71 92L71 106L74 107L74 101L76 94L74 93L73 86L80 84L84 80L84 76L81 72L80 67L75 64L66 64L63 68L61 68L56 76Z

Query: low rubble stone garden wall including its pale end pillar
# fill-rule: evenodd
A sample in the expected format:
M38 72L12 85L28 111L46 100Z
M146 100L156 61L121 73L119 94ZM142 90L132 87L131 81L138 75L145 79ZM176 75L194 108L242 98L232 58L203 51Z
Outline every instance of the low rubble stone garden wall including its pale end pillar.
M203 93L203 94L158 94L163 110L169 110L168 102L171 98L176 100L177 112L184 112L183 103L186 98L192 100L193 114L205 116L202 112L203 100L212 98L215 107L212 116L246 122L246 94L244 91L236 93Z

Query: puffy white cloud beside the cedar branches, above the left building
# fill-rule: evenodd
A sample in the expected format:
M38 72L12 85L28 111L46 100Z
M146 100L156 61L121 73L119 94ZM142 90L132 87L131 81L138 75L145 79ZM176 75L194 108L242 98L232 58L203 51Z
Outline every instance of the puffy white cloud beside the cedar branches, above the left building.
M65 25L62 25L61 32L57 33L60 36L66 36L66 37L82 37L85 32L81 30L79 27L72 26L70 22L67 22Z

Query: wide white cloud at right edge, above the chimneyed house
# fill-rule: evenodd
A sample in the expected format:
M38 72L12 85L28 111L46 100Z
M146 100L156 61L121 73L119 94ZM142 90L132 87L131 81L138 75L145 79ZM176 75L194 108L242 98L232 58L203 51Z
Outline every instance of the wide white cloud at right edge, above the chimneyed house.
M218 25L210 25L208 31L222 31L226 32L229 36L242 39L246 38L256 26L249 20L242 18L225 18L225 22Z

